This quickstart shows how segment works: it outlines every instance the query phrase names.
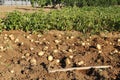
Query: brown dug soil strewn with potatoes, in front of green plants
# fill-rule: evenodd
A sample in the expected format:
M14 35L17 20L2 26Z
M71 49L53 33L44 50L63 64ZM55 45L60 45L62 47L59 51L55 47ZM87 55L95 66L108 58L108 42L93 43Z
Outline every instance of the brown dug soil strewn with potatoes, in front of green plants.
M103 65L112 68L49 72ZM120 32L3 31L0 80L120 80Z

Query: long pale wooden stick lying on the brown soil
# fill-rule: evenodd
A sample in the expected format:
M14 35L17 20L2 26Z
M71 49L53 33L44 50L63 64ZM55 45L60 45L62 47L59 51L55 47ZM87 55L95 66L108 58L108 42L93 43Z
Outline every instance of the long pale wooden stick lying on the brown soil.
M49 73L54 73L54 72L65 72L65 71L72 71L72 70L87 70L91 68L111 68L112 66L89 66L89 67L74 67L74 68L66 68L66 69L53 69L53 70L48 70Z

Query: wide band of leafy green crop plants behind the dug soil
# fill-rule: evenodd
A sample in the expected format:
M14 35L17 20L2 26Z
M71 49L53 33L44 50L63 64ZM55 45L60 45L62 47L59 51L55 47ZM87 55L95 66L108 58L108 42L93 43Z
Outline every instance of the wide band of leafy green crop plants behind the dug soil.
M6 30L77 30L83 33L120 31L120 7L69 7L61 10L35 13L11 12L0 20Z

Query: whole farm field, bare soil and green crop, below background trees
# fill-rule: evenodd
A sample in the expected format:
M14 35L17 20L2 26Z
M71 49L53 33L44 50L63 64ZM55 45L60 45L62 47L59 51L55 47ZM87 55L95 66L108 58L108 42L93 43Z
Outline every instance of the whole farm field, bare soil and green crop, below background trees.
M0 6L0 80L120 79L119 6L8 7ZM78 67L89 69L65 71Z

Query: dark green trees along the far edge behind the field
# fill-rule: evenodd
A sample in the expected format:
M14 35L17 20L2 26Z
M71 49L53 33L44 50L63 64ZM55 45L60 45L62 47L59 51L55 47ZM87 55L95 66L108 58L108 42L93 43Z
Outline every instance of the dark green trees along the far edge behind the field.
M30 0L33 7L36 4L39 6L53 5L55 7L57 4L64 4L64 6L112 6L120 5L120 0Z

